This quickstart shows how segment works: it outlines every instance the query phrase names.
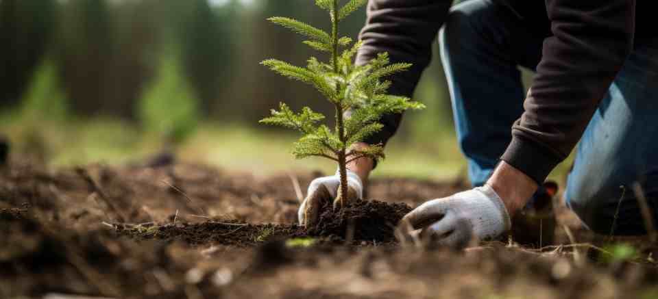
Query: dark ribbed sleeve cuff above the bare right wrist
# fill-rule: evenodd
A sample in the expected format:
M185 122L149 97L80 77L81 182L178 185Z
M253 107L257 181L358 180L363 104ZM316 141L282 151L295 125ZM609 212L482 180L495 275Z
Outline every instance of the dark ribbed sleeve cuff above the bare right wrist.
M502 161L521 170L541 185L548 174L565 159L562 155L550 151L545 146L517 134L513 134L512 142L500 157Z

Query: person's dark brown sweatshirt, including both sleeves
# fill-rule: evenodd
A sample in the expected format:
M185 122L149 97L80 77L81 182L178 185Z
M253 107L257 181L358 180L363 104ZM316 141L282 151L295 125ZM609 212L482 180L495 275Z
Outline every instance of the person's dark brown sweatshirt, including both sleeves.
M496 0L494 0L496 1ZM519 18L550 25L525 112L512 127L513 139L501 159L538 183L568 156L580 140L598 103L633 49L635 4L642 0L498 0ZM430 62L431 44L452 0L370 0L361 31L364 64L387 51L392 62L411 70L391 77L389 92L411 96ZM545 6L544 6L545 5ZM535 21L533 21L535 20ZM649 27L650 20L637 20ZM651 22L653 23L653 22ZM637 31L655 36L655 29ZM401 115L382 118L385 128L370 144L386 143Z

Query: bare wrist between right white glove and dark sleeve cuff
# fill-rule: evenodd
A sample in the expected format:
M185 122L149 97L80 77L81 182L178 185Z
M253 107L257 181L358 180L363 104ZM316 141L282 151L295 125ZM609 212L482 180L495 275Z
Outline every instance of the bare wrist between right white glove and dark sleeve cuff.
M533 179L505 161L493 170L487 185L500 196L510 217L526 205L538 187Z

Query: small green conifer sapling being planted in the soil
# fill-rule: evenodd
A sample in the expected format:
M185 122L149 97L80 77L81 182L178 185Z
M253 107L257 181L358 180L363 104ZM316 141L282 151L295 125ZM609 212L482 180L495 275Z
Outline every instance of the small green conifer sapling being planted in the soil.
M292 18L276 16L268 19L308 38L304 44L328 53L329 62L310 57L306 68L280 60L261 62L280 75L314 86L336 108L336 127L332 130L321 124L325 116L308 107L295 113L285 103L280 103L278 110L273 109L271 116L260 122L300 131L303 136L295 142L293 149L297 159L324 157L339 164L341 187L334 204L342 207L348 200L342 196L348 194L347 164L361 157L375 160L384 157L381 144L348 151L350 146L380 131L384 126L378 120L383 114L422 109L424 105L404 96L387 94L391 81L385 78L408 69L411 64L390 64L388 54L380 53L364 66L354 65L353 58L361 47L361 42L339 37L339 23L367 3L367 0L348 0L344 5L339 5L339 2L341 1L315 0L316 5L330 15L331 33Z

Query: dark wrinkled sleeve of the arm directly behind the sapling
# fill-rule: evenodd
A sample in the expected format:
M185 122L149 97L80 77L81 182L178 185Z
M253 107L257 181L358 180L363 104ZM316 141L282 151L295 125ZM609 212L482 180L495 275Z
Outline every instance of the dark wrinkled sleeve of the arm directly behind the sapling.
M363 47L358 51L356 64L363 65L387 52L392 63L406 62L410 70L387 79L392 84L389 94L413 94L422 71L432 56L432 42L443 24L450 0L370 0L367 20L359 38ZM368 144L386 144L395 134L401 114L387 114L380 119L382 130L365 140Z

